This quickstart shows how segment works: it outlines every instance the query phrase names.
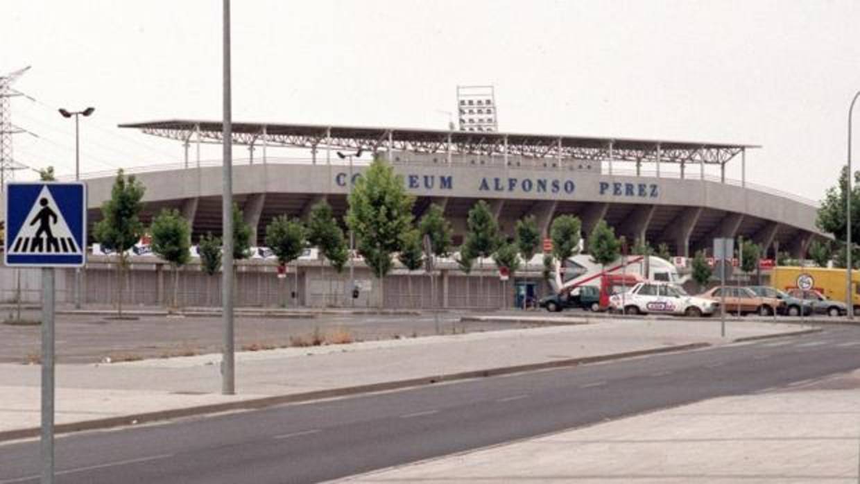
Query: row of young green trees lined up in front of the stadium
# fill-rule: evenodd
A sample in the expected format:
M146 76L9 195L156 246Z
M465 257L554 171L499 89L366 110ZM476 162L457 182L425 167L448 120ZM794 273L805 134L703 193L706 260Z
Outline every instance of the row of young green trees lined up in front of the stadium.
M120 314L123 273L129 262L127 251L145 232L151 236L153 253L173 267L175 287L178 287L179 269L191 258L191 226L179 211L165 209L152 219L150 227L144 227L140 218L144 191L140 181L120 170L110 199L101 206L101 221L95 224L95 240L103 248L113 250L118 257L117 301ZM405 191L402 178L382 159L375 159L365 174L356 180L348 198L343 224L337 220L331 206L322 201L311 208L307 221L286 215L274 217L265 229L264 239L281 265L298 259L304 248L316 247L323 263L327 261L335 272L341 273L349 260L347 237L342 228L345 225L353 232L358 254L381 283L390 273L395 255L408 271L415 271L429 256L449 257L454 252L453 230L450 222L445 220L442 207L430 205L416 222L414 204L415 197ZM252 230L244 222L237 205L233 206L232 217L233 257L234 260L243 260L250 256ZM429 239L428 254L424 252L425 236ZM550 226L550 238L553 249L551 254L544 256L544 278L550 277L555 260L566 260L577 254L581 242L580 220L570 215L556 217ZM483 261L489 258L494 260L495 266L507 268L513 278L522 261L531 260L538 253L542 242L541 230L534 216L520 219L514 236L509 238L501 234L487 202L480 200L469 211L466 235L463 244L457 248L456 261L464 273L471 273L476 261L483 268ZM617 259L623 243L624 238L616 237L614 230L601 221L590 234L588 247L593 260L605 265ZM218 273L221 245L221 239L212 234L200 238L200 263L205 273ZM647 246L641 249L650 250ZM665 247L659 250L668 252ZM482 278L479 284L483 287ZM174 306L178 305L177 293L173 291Z

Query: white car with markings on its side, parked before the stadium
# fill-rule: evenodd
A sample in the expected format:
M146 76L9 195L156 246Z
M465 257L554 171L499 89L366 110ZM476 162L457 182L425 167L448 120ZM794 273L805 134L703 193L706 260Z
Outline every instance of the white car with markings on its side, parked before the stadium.
M609 298L609 309L628 315L666 314L711 316L720 303L703 297L692 297L677 285L641 282L630 291Z

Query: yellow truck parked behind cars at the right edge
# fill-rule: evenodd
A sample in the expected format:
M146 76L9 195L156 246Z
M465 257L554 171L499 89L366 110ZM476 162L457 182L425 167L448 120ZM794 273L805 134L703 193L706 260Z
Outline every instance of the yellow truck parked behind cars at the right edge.
M771 285L795 297L802 291L815 291L834 303L842 303L843 310L845 308L845 269L777 266L771 273ZM810 297L813 296L805 298ZM860 270L857 269L851 272L851 303L854 314L860 314Z

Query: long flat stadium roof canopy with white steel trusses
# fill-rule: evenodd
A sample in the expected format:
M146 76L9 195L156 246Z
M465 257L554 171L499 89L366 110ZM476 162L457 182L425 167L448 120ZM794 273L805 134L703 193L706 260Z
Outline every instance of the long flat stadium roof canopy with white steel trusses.
M222 141L221 121L166 119L121 124L183 143ZM627 162L725 164L751 144L715 144L654 139L593 138L513 132L464 132L366 126L288 125L234 122L233 144L311 150L402 150L494 156L555 157ZM198 138L199 137L199 138Z

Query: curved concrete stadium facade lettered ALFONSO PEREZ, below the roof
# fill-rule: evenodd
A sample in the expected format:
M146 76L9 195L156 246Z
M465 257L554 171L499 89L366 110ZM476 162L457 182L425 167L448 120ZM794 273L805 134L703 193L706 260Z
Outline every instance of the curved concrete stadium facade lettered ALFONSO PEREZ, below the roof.
M801 256L808 243L821 236L814 226L815 205L719 181L406 158L398 154L392 163L415 195L415 217L431 203L442 205L456 238L463 235L467 213L479 199L488 201L509 236L520 217L534 215L545 233L554 217L573 214L581 218L586 235L605 219L618 235L643 238L654 246L666 242L681 256L710 248L717 236L744 236L765 248ZM352 176L365 168L356 163ZM194 240L208 231L220 233L220 167L157 169L137 176L146 187L144 222L163 208L176 208L193 221ZM110 196L113 181L113 176L87 180L90 224L101 217L99 207ZM258 162L234 167L235 200L260 244L273 217L304 217L322 199L342 216L349 184L345 164Z

